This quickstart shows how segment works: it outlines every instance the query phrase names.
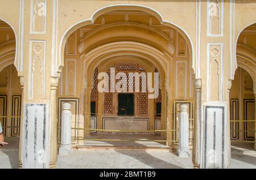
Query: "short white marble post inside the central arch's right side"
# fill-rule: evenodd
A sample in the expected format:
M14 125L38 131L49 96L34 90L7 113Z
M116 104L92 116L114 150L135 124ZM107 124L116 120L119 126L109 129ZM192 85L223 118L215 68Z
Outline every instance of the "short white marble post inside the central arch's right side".
M191 155L189 151L189 133L188 133L188 105L180 104L179 113L179 147L178 156L179 157L189 157Z

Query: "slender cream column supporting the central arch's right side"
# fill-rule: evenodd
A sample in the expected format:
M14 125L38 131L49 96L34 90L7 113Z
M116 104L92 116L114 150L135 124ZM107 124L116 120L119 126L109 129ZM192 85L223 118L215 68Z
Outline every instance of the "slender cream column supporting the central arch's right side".
M195 118L193 128L192 161L194 168L200 167L200 124L201 124L201 79L195 79Z

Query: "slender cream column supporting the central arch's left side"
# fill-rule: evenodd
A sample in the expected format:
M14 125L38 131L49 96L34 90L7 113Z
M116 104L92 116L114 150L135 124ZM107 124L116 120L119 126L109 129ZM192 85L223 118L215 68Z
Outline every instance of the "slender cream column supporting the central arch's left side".
M59 85L59 78L51 77L51 91L50 91L50 123L51 123L51 132L50 132L50 160L49 160L49 168L55 168L55 164L57 161L57 115L56 115L56 91Z

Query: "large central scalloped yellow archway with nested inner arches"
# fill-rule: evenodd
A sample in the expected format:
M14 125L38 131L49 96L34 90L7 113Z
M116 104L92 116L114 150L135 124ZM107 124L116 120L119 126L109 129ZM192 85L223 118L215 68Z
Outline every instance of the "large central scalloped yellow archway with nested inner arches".
M96 79L96 68L100 73L106 72L105 67L115 66L116 63L141 65L148 72L159 72L162 96L158 110L162 114L160 129L168 130L162 136L166 136L168 146L174 145L175 148L177 131L170 130L177 130L179 127L176 120L181 103L189 106L189 118L193 118L193 56L189 38L180 28L141 8L117 6L106 10L104 14L96 13L94 16L97 18L91 21L74 25L67 32L67 37L63 38L63 43L65 41L67 44L65 50L61 50L64 68L58 95L59 114L61 103L70 100L77 109L77 112L74 110L77 117L73 119L74 128L91 128L91 114L96 114L90 109L94 85L92 79ZM101 97L100 101L101 105L97 106L98 110L101 109L98 112L101 120L97 120L100 125L94 126L98 129L104 128L102 116L105 115L101 107L104 106L104 98ZM151 119L148 130L155 129L155 103L155 100L148 101L151 104L151 109L148 109L148 118ZM190 128L193 128L192 125L191 122ZM192 134L191 131L190 140ZM74 139L83 139L88 135L90 131L73 131Z

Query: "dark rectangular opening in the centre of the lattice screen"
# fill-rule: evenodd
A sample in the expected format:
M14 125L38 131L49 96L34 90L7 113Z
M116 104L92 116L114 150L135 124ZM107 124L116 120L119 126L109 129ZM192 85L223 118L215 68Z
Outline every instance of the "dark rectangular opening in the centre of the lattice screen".
M118 115L134 115L134 94L118 94Z

